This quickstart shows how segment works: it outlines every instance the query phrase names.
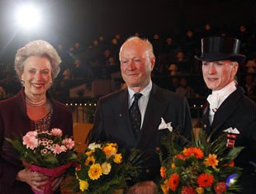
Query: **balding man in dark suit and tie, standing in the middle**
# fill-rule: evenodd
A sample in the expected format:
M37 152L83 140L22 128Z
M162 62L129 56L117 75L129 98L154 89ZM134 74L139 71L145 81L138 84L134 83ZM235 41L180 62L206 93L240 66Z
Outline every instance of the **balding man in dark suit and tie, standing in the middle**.
M192 123L189 107L186 98L152 83L155 57L149 40L138 37L126 40L121 46L120 61L121 75L127 88L98 101L89 142L111 141L126 149L137 148L152 154L156 165L149 180L136 182L128 193L156 193L153 180L159 176L159 156L155 154L155 149L159 147L161 137L168 133L168 129L159 130L161 117L166 123L171 122L173 130L190 138ZM129 109L132 109L134 94L139 92L142 94L138 100L141 122L139 130L134 131Z

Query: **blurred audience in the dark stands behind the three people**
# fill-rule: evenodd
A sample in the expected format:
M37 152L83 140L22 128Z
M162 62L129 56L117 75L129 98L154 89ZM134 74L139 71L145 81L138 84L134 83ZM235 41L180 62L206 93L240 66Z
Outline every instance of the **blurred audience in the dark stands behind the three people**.
M185 97L205 97L208 94L201 79L201 64L194 59L194 55L201 52L201 37L221 35L238 38L241 40L240 54L247 57L244 65L239 67L238 82L249 97L256 96L255 32L243 25L237 26L235 31L227 31L213 28L209 23L199 31L187 29L183 35L99 35L87 44L83 40L69 45L55 44L62 64L59 77L50 89L52 95L99 97L126 87L121 79L119 50L126 38L132 35L147 38L154 46L157 59L152 74L154 82ZM0 59L0 98L11 97L21 88L12 69L12 64Z

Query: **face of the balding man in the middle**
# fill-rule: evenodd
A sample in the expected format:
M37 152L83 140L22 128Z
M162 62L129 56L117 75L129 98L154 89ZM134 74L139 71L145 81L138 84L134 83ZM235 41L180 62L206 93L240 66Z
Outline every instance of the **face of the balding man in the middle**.
M149 84L154 68L154 56L149 57L145 44L126 42L120 52L121 75L130 88L143 89Z

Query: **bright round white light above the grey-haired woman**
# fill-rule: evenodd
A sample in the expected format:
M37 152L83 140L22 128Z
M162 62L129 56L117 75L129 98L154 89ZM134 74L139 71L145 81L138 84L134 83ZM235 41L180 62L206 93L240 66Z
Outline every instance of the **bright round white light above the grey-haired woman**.
M16 12L17 24L23 30L38 29L41 22L40 9L32 4L21 5Z

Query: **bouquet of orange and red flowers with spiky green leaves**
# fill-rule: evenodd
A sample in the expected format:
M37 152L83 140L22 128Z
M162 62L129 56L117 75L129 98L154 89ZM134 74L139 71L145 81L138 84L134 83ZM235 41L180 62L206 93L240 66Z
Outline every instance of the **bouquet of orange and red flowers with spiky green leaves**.
M242 147L228 148L226 134L210 142L202 130L192 143L182 139L181 135L171 133L163 140L168 154L164 159L160 153L160 192L224 194L239 189L235 181L241 168L234 166L234 159Z

